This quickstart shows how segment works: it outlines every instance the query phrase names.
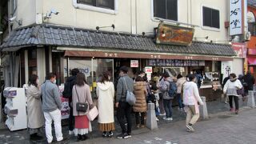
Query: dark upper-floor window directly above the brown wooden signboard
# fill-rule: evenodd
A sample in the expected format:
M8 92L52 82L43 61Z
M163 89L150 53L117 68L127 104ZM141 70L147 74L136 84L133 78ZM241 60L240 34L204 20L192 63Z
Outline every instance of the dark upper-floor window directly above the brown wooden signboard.
M178 21L178 0L154 0L154 17Z

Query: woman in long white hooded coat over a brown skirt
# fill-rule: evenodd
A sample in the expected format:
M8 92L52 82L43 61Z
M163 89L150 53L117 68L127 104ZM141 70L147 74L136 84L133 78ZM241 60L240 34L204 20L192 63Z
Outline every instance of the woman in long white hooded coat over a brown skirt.
M110 73L102 74L97 83L98 96L98 128L103 137L112 137L114 130L114 84L110 82Z

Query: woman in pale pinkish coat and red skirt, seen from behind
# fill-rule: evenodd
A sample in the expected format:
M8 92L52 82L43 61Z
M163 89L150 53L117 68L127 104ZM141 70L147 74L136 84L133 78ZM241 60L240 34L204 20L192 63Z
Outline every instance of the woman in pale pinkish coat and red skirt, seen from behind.
M86 112L77 111L77 102L86 102L88 104ZM90 86L87 85L85 74L77 74L75 85L72 90L72 106L74 115L74 135L78 136L78 141L84 141L87 138L86 134L88 134L90 130L90 121L86 114L90 110L90 107L93 107Z

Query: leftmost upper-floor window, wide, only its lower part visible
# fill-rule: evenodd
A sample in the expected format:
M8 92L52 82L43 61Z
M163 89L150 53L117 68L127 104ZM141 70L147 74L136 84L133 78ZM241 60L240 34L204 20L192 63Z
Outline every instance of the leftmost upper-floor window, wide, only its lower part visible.
M114 10L114 0L78 0L78 3Z

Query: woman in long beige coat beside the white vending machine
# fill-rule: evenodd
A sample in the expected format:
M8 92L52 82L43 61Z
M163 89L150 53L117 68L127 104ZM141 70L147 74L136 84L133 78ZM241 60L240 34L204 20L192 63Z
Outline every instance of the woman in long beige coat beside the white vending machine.
M38 87L38 76L32 74L29 80L29 86L26 90L27 96L27 115L28 115L28 128L30 130L30 139L39 140L42 136L42 126L45 123L45 118L42 112L41 91Z

